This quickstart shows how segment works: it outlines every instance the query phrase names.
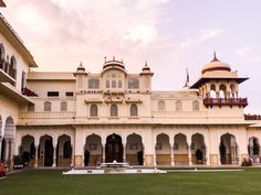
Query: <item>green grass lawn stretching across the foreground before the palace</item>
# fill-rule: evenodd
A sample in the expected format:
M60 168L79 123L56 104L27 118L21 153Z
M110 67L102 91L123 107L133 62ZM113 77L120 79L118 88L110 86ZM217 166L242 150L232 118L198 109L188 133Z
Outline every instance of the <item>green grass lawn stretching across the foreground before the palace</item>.
M242 172L62 175L24 171L0 180L0 195L261 195L261 169Z

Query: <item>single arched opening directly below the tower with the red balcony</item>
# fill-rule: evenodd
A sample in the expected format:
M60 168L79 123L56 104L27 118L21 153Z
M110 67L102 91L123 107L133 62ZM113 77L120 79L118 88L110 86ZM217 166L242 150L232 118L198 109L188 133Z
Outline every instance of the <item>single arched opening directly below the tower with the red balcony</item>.
M238 164L238 144L233 134L221 136L219 153L221 164Z

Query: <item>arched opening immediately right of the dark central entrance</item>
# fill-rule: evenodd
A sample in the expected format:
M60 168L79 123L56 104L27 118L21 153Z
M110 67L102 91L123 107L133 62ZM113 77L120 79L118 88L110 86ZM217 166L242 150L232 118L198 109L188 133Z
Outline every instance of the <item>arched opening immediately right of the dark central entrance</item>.
M127 137L126 161L130 165L143 165L143 141L139 134L133 133Z

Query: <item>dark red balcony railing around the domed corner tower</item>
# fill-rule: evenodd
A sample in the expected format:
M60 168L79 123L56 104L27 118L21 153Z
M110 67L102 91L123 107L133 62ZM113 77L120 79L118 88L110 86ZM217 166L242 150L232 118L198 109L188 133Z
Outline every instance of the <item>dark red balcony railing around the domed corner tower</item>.
M248 98L205 98L203 105L206 107L212 106L239 106L239 107L246 107L248 106Z

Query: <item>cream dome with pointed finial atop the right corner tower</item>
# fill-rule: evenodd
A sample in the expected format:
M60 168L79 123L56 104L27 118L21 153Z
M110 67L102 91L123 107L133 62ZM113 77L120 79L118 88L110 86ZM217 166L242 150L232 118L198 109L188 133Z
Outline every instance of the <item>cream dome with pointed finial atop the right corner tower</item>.
M231 68L230 68L229 64L219 61L216 57L216 53L213 53L213 59L202 67L201 74L205 74L206 72L213 72L213 71L227 71L227 72L230 72Z

